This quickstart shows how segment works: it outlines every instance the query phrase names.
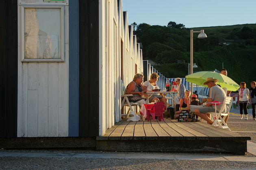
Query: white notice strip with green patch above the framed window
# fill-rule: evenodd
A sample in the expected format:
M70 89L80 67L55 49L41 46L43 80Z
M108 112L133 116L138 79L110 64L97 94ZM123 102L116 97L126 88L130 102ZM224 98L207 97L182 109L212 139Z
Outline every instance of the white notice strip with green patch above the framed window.
M19 0L19 5L68 5L68 0Z

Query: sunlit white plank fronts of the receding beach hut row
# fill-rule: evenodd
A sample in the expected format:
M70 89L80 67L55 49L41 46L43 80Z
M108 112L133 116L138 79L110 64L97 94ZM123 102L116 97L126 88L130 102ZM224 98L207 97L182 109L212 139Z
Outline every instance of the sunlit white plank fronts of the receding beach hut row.
M143 72L142 51L132 26L129 31L128 12L124 16L122 0L117 5L117 0L99 0L100 136L121 120L121 79L128 85L135 65Z

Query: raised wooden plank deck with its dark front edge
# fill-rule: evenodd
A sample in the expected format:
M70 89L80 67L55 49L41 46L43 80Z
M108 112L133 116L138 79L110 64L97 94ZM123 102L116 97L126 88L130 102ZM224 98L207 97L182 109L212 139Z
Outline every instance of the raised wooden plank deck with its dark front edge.
M244 155L249 136L202 122L137 121L125 119L97 136L99 151L226 152Z

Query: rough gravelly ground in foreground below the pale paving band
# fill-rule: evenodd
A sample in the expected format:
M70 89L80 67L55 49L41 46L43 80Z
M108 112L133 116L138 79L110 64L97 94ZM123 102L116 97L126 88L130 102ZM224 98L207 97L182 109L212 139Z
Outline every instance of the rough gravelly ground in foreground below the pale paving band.
M4 157L0 158L1 169L101 169L101 170L225 170L256 169L255 162L200 161L169 159L109 159L109 158L47 158Z

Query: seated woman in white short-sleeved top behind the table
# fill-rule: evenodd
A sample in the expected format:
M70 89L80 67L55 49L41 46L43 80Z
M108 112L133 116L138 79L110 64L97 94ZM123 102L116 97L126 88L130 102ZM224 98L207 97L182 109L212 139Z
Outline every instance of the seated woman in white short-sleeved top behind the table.
M150 80L145 81L143 83L143 87L147 88L148 91L152 91L153 89L159 89L159 86L156 84L158 77L159 75L154 72L153 74L150 75ZM146 94L144 95L147 96ZM165 98L163 94L160 94L160 93L154 93L148 100L149 100L148 101L149 103L155 100L158 100L158 101L160 100L161 102L165 103L165 106L167 106L167 98Z

